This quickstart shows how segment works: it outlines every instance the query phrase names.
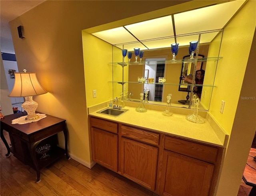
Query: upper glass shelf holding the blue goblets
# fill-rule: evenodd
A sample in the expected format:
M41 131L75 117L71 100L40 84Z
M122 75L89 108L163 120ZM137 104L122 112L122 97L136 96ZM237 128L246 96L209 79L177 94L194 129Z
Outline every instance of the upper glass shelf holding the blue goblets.
M205 61L218 61L219 59L222 59L222 57L206 57L206 58L198 58L197 62L205 62ZM165 60L165 61L157 61L157 64L178 64L178 63L194 63L196 59L175 59L175 60ZM121 65L121 66L127 66L127 65L145 65L150 61L141 61L138 63L134 62L111 62L108 63L110 65ZM154 61L155 62L155 61Z

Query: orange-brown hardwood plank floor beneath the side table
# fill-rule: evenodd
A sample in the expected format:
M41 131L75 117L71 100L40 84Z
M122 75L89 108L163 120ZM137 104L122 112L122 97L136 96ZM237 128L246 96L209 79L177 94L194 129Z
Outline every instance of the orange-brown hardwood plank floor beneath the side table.
M4 131L8 141L8 133ZM10 141L8 141L10 143ZM0 142L1 196L157 196L157 194L96 164L92 169L66 160L65 156L41 170L36 184L36 171L23 164ZM251 187L241 182L238 196L248 196Z

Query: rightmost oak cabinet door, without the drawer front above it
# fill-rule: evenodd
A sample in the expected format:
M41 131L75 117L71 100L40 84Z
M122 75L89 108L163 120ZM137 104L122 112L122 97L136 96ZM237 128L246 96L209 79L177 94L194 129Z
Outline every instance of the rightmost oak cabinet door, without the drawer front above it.
M164 190L168 196L208 196L214 165L164 150Z

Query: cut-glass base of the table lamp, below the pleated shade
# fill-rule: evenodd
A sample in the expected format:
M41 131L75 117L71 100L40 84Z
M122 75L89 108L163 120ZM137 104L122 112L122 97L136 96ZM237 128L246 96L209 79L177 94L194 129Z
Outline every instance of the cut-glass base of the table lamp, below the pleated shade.
M25 118L26 121L39 118L39 116L36 114L38 103L33 100L32 96L25 97L25 102L21 105L21 107L28 113Z

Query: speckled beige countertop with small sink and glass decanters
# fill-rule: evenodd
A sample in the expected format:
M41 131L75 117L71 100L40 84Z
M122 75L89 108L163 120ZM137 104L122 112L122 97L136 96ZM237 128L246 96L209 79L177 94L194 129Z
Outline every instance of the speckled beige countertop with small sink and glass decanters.
M206 120L202 124L193 123L185 119L186 115L174 113L172 116L164 116L162 111L156 111L148 109L147 112L140 113L135 109L136 107L125 106L124 109L128 109L126 113L119 117L112 117L97 113L107 107L98 106L92 109L88 109L88 113L93 117L100 117L102 119L111 120L117 123L123 123L127 125L133 125L140 128L147 128L157 132L167 133L170 135L191 139L193 141L200 141L203 143L226 147L228 135L225 131L222 131L220 127L210 125L212 120ZM192 110L188 110L192 114ZM207 117L208 118L208 117ZM215 129L213 129L213 127Z

